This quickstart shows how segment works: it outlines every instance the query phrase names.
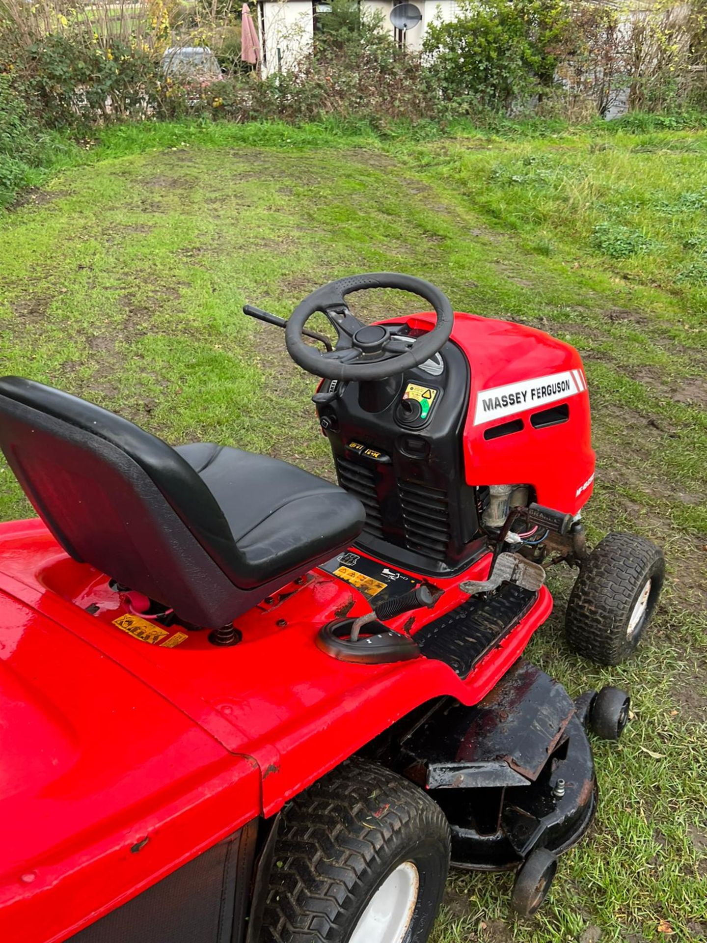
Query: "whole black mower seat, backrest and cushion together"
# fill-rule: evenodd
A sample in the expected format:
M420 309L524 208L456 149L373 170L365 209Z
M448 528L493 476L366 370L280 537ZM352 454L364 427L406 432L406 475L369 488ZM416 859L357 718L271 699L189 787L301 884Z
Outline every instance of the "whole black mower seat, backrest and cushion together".
M0 448L68 554L207 627L344 549L365 519L352 495L287 462L173 449L20 377L0 379Z

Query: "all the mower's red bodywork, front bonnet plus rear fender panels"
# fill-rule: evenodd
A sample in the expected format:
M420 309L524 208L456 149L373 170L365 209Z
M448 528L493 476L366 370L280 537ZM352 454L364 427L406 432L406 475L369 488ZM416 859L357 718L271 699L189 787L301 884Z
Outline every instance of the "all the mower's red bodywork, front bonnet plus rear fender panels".
M424 329L433 316L395 323L405 320ZM594 474L580 356L463 314L452 341L470 364L467 483L522 481L576 515ZM490 559L430 576L444 591L436 608L389 626L415 637L467 598L459 583L484 579ZM179 626L140 637L106 574L75 562L41 521L0 525L0 939L60 943L272 816L420 704L478 703L548 618L551 595L541 587L466 679L434 658L352 664L317 647L323 623L369 610L358 588L317 568L238 618L233 648Z

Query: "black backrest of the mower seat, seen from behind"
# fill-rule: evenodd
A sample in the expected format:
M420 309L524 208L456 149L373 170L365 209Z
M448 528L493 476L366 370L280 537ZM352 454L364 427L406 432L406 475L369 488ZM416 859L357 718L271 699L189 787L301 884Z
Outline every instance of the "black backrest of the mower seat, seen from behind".
M173 448L132 422L20 377L0 379L0 448L61 546L126 587L218 627L238 549L215 498Z

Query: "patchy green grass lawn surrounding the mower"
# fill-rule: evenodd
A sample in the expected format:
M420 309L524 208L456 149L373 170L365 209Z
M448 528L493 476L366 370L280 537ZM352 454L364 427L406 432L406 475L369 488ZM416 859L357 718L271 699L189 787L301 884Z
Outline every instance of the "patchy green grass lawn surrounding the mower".
M331 475L276 328L347 273L436 282L460 310L531 323L584 356L599 470L586 522L666 550L639 657L598 669L562 637L567 572L529 655L570 693L633 695L595 744L601 802L538 915L509 875L455 873L436 943L707 934L707 133L442 141L257 125L110 132L0 219L0 369L69 389L173 442L206 439ZM403 297L403 296L401 296ZM382 294L370 315L404 310ZM548 456L551 461L551 456ZM519 472L518 478L522 478ZM24 515L0 467L0 517Z

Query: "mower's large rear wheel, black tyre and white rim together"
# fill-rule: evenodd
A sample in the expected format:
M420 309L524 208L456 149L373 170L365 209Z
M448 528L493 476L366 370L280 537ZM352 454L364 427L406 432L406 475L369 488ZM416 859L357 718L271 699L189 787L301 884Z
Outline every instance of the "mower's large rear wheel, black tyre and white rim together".
M395 773L343 763L290 802L275 845L262 943L424 943L450 830Z

